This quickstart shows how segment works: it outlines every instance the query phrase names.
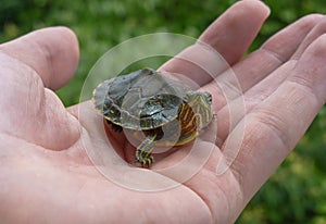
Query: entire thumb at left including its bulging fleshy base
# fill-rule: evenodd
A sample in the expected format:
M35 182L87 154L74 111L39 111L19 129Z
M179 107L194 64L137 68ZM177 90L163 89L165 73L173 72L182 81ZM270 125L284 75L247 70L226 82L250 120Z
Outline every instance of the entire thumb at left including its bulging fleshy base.
M66 84L77 61L77 41L67 28L40 29L1 45L0 133L53 150L72 146L79 123L49 88Z

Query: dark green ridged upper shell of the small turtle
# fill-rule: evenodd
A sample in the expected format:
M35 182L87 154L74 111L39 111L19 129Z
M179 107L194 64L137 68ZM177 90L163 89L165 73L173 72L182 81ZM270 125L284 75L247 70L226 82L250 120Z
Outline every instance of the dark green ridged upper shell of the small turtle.
M149 130L175 120L189 90L160 72L143 69L104 80L95 89L92 99L111 123Z

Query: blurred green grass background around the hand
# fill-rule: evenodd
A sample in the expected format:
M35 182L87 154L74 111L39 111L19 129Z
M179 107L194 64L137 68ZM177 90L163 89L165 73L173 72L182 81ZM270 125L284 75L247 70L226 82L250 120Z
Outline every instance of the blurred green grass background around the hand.
M72 82L58 91L78 102L89 70L110 48L130 37L170 32L198 37L235 0L0 0L0 41L46 26L65 25L77 35L80 63ZM325 0L266 0L272 14L250 51L309 13L326 13ZM326 63L326 62L325 62ZM296 150L261 188L237 223L326 224L326 109Z

